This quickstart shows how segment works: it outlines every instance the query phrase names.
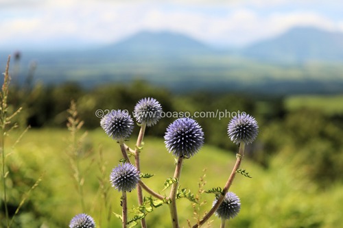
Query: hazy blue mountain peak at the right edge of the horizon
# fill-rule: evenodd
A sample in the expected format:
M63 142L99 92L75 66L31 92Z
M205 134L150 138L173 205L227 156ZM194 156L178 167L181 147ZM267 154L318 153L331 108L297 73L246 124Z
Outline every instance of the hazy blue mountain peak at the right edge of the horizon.
M250 58L278 62L343 60L343 33L294 27L281 36L257 42L241 52Z

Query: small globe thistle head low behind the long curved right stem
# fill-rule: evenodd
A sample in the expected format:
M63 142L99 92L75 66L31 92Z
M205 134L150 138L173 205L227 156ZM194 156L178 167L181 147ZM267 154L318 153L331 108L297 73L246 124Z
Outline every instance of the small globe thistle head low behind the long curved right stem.
M213 206L217 203L217 199L213 201ZM220 204L215 215L224 218L235 218L239 211L241 210L241 201L237 195L233 192L228 192L225 195L224 201Z

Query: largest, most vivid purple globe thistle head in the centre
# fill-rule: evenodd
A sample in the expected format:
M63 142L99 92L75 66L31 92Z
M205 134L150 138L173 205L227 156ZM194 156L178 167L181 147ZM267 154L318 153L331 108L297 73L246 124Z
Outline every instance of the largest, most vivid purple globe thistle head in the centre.
M165 133L165 146L177 157L191 157L204 144L204 132L192 118L178 118Z

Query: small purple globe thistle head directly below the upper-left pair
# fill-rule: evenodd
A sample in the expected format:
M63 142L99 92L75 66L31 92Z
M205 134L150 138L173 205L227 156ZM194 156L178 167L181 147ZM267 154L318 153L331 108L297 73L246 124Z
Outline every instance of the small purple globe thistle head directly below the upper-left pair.
M119 164L110 173L112 187L119 191L130 192L136 188L139 181L139 171L130 163Z

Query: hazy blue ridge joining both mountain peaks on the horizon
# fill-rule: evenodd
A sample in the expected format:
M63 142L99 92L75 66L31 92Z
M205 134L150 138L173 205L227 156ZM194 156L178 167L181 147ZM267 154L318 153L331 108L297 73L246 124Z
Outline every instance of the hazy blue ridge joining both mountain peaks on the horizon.
M241 49L218 49L185 34L145 30L100 50L132 58L224 54L271 62L343 61L343 33L316 27L293 27L279 36Z

